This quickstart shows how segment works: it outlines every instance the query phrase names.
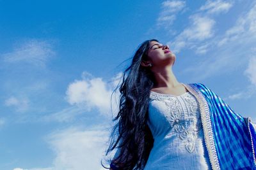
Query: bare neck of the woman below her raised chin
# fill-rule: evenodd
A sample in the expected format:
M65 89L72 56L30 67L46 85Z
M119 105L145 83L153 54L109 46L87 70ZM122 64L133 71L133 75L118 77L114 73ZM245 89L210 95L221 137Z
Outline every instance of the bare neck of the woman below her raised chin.
M154 76L156 78L156 85L153 88L157 87L176 87L180 85L179 81L173 74L172 67L165 67L165 69L161 69L160 71L154 71Z

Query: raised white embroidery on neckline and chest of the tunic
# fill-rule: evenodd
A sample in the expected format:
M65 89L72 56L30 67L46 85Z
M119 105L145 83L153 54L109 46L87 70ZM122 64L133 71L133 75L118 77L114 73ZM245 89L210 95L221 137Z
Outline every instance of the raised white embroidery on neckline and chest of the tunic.
M181 96L171 96L168 94L151 93L151 99L163 101L168 107L168 114L164 115L170 122L172 131L170 135L177 135L185 143L185 148L189 153L195 150L196 139L199 136L199 131L202 129L202 122L200 121L199 104L191 94ZM183 97L184 96L184 97ZM183 99L188 107L183 108L179 99Z

